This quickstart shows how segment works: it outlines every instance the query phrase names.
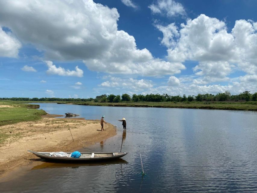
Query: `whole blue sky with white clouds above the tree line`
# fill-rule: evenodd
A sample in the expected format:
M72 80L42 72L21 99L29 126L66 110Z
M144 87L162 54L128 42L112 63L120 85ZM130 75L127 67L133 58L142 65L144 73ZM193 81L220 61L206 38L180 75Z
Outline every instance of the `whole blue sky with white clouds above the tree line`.
M2 0L0 97L257 92L255 0Z

